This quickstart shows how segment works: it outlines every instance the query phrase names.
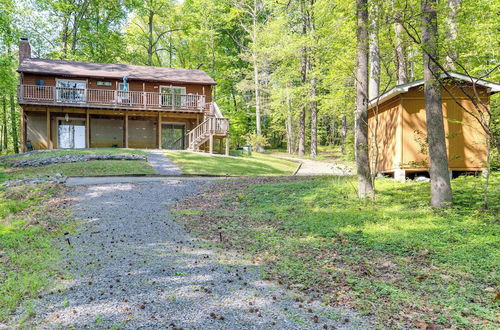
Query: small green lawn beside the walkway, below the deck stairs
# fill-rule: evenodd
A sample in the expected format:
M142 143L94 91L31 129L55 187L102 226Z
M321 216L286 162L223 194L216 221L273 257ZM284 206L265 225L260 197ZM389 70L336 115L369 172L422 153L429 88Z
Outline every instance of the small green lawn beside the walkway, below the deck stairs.
M212 156L200 153L169 152L166 155L186 174L233 176L290 175L298 163L259 153Z

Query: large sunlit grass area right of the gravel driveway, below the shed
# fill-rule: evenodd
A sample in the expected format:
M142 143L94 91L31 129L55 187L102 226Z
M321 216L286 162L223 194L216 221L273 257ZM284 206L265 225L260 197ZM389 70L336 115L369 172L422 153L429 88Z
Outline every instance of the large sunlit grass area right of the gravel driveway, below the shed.
M377 180L377 199L353 178L220 182L178 206L179 221L265 265L265 276L353 306L383 328L498 325L500 175L490 210L482 179L453 180L455 206L428 207L428 183ZM218 199L213 196L222 195ZM214 243L221 244L221 243Z

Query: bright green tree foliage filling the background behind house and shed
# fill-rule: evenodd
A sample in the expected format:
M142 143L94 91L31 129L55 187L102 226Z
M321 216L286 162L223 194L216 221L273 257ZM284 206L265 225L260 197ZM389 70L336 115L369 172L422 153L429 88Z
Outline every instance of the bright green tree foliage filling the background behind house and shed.
M319 109L323 144L338 145L343 117L353 126L355 15L354 1L257 1L255 28L253 1L217 0L2 0L0 6L0 85L14 92L19 36L28 36L36 56L96 62L126 62L169 67L201 68L216 81L216 101L231 119L231 143L241 146L255 131L254 67L259 76L263 135L281 146L291 122L297 143L298 112L312 101ZM314 30L303 31L301 3L311 15ZM379 8L381 92L396 83L394 21L401 18L410 35L403 36L410 80L422 76L419 44L420 4L417 0L371 1ZM500 28L496 2L461 1L456 18L457 39L449 38L447 1L439 2L442 57L455 53L457 71L500 80L493 70L499 57L496 32ZM413 39L415 38L415 40ZM314 63L301 80L304 55ZM310 78L317 80L317 96L310 96ZM0 86L0 90L2 86ZM0 92L4 95L5 92ZM1 95L0 95L1 96ZM1 109L0 109L1 110ZM498 121L493 111L493 125ZM306 113L309 140L309 111ZM14 118L14 122L17 122ZM3 125L14 134L8 117ZM15 125L14 125L15 126ZM498 126L498 125L497 125ZM352 131L346 150L352 154ZM14 140L8 134L8 152Z

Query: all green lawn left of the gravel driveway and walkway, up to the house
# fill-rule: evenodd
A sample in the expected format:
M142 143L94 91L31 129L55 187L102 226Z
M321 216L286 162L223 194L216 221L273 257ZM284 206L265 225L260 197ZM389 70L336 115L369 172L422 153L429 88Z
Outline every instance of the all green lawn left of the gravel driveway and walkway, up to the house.
M146 161L96 160L39 167L13 167L17 160L78 154L137 154L133 149L52 150L4 158L0 182L35 176L91 176L107 174L153 174ZM0 322L24 300L38 294L58 273L54 238L72 230L64 203L57 202L65 188L53 184L5 187L0 185ZM60 275L60 274L59 274Z

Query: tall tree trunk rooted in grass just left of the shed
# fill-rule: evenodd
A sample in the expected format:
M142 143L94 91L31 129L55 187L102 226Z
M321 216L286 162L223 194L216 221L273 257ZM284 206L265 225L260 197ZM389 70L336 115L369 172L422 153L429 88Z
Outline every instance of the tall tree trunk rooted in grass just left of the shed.
M356 167L358 196L374 196L368 159L368 0L356 0Z

